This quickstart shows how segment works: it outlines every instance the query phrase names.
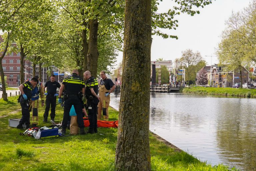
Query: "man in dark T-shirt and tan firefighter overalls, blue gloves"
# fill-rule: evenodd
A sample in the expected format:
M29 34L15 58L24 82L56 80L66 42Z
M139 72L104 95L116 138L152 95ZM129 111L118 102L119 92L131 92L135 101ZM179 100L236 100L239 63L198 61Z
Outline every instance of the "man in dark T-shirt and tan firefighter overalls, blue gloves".
M98 119L101 119L101 111L103 113L103 119L108 121L108 107L110 102L110 93L112 93L116 86L113 81L106 77L106 73L104 71L100 72L100 102L98 104Z

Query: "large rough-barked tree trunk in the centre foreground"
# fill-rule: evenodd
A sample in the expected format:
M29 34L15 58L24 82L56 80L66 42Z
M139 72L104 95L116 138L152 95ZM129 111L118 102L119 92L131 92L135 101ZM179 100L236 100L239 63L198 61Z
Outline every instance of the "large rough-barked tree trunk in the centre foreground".
M126 0L123 81L115 164L118 171L150 171L149 104L151 1Z

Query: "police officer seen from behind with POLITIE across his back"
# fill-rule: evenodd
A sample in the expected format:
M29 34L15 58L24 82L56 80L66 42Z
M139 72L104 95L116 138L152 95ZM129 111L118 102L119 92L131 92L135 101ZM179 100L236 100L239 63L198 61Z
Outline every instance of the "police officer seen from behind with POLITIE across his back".
M84 81L81 77L78 76L78 70L74 69L72 71L72 75L68 75L66 78L63 79L62 85L60 86L59 91L59 100L58 102L61 103L61 95L63 89L65 87L65 94L64 94L64 115L62 121L62 135L65 135L67 123L69 121L69 111L74 105L76 115L77 115L77 123L78 127L80 128L80 135L86 134L84 131L84 121L83 121L83 113L82 113L82 97L85 94L85 87Z

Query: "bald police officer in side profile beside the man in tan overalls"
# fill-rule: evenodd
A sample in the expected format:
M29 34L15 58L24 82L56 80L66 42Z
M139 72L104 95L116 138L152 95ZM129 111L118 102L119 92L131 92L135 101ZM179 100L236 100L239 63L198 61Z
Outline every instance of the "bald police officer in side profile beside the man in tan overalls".
M84 72L85 93L87 98L88 119L90 122L89 130L87 133L97 133L97 105L100 100L98 96L98 81L91 76L90 71Z

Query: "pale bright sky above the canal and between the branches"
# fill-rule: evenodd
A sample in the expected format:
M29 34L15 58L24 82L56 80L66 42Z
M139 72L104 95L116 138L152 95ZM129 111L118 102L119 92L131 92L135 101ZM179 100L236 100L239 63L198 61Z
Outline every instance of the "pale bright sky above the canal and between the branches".
M221 33L226 28L225 22L232 11L239 12L248 7L250 2L251 0L215 0L212 4L199 8L200 14L181 14L177 17L179 26L176 30L161 30L170 35L177 35L178 40L152 36L151 61L159 58L174 61L181 57L181 51L192 49L193 52L199 51L208 65L211 64L211 58L212 65L218 63L215 52L221 41ZM163 0L158 12L166 12L172 8L172 3L171 0ZM122 59L123 53L120 52L116 64L122 62Z

